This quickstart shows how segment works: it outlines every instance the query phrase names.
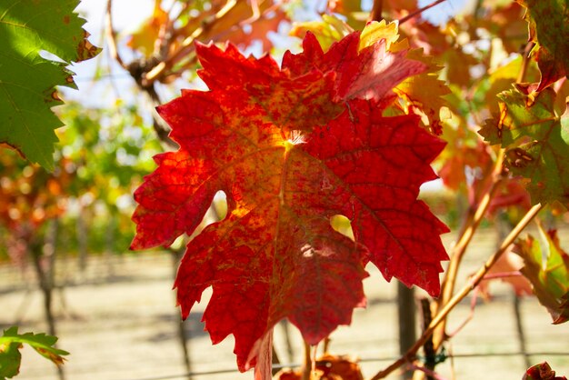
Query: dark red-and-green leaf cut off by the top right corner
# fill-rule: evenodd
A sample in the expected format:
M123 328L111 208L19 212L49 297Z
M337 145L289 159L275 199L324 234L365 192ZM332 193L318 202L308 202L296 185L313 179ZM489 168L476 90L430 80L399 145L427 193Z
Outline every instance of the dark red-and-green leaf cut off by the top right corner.
M529 39L542 74L536 91L569 74L569 6L566 0L516 0L527 8Z

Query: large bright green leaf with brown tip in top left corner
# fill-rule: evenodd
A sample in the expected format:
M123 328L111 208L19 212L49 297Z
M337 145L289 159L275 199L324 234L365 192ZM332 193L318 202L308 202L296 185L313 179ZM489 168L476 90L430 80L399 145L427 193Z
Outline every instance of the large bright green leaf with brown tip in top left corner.
M99 53L73 10L79 0L0 2L0 143L30 161L53 168L54 129L62 125L51 111L61 105L55 85L76 88L65 69ZM63 62L45 59L47 52ZM45 55L45 54L44 54Z

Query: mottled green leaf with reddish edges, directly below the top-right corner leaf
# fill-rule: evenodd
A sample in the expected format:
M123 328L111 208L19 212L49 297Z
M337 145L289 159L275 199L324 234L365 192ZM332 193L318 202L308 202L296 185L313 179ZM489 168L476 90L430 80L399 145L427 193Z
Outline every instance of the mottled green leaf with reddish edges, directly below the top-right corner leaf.
M498 95L500 114L479 131L490 144L506 149L505 163L514 175L531 182L532 203L569 205L569 114L558 116L555 92L516 85Z

